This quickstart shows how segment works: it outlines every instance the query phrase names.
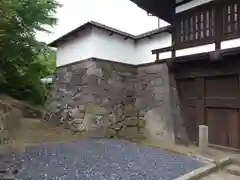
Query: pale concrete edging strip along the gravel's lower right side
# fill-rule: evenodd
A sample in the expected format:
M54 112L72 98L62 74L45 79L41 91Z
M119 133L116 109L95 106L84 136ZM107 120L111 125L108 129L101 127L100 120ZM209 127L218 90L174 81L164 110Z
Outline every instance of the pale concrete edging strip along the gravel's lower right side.
M198 168L192 172L189 172L183 176L180 176L175 180L196 180L210 174L211 172L216 171L218 168L221 168L227 164L230 164L231 162L232 162L231 158L229 157L223 158L223 159L220 159L215 164L208 164L204 167Z

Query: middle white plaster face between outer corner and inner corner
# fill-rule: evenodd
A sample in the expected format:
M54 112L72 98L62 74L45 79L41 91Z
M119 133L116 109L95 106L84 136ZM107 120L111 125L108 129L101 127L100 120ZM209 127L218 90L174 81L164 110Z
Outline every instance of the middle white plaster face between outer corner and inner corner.
M133 40L124 40L123 36L101 29L93 28L91 39L92 57L106 59L127 64L137 64L136 44Z

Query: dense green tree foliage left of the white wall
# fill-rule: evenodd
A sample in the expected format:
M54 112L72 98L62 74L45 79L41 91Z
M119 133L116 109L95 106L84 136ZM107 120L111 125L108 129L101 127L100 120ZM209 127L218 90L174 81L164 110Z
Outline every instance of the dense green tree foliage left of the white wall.
M55 0L0 1L0 91L43 103L40 79L55 71L55 52L35 38L56 23Z

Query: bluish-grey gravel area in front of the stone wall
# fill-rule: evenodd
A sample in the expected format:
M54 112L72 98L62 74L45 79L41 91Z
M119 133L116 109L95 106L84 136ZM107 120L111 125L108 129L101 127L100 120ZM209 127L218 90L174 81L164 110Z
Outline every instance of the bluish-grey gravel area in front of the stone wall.
M187 156L119 140L84 140L31 147L22 180L173 180L204 164Z

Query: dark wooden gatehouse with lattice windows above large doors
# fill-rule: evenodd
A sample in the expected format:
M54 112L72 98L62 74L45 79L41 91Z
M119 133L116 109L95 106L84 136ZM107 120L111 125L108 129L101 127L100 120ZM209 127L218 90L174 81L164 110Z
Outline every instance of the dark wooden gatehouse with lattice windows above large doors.
M240 149L240 1L132 1L172 25L172 46L152 53L175 74L188 137L206 124L212 145Z

